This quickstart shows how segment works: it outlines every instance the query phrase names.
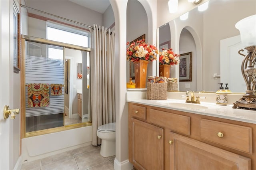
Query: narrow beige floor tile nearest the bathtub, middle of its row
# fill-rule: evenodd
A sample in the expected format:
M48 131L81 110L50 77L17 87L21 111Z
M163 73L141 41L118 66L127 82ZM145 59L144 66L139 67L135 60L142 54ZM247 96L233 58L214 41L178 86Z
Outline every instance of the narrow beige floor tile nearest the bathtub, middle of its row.
M56 154L56 155L52 155L52 156L48 156L46 158L43 158L42 159L42 166L57 162L59 160L68 159L68 158L74 158L73 153L72 153L71 150L66 151L66 152L62 152L60 154Z

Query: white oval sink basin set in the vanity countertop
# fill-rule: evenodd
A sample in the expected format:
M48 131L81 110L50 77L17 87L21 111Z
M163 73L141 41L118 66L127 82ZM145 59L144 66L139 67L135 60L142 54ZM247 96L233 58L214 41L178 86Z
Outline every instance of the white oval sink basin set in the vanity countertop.
M182 101L184 102L184 101ZM200 104L194 104L194 103L177 103L173 101L162 101L159 102L160 105L166 105L170 107L175 107L175 108L182 108L182 109L191 109L191 110L199 110L199 109L208 109L206 106L202 106Z

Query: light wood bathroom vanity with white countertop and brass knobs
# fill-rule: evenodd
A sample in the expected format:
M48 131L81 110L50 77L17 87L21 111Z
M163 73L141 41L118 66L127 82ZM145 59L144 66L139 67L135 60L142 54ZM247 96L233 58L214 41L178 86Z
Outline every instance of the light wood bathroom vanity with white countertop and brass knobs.
M128 102L135 169L256 169L256 111L171 99Z

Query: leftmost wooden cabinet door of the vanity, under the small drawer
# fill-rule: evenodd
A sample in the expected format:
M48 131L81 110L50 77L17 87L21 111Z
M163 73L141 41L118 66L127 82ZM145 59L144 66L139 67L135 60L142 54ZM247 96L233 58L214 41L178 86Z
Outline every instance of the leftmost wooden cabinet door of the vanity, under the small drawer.
M164 169L164 129L131 119L130 162L137 169Z

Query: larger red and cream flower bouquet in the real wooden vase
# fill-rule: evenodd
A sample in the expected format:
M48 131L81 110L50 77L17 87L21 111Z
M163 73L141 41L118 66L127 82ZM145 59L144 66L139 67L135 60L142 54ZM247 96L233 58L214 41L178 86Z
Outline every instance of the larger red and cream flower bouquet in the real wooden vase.
M128 45L129 42L126 43ZM132 42L126 49L126 58L129 61L149 60L156 59L158 49L154 45L148 45L145 40Z

